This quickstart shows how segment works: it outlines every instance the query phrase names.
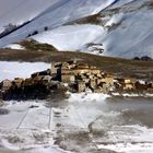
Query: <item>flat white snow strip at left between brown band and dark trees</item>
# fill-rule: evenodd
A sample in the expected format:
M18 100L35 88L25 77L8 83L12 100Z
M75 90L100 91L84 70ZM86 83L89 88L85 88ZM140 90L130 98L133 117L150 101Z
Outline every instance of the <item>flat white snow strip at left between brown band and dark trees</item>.
M4 79L28 78L32 73L50 68L44 62L10 62L0 61L0 81Z

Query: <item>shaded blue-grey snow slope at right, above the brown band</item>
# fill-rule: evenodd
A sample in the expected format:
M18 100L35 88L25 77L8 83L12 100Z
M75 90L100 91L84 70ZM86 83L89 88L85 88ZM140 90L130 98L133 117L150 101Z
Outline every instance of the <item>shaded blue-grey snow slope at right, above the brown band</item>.
M133 58L150 56L153 58L153 13L148 8L139 9L138 3L127 5L133 7L133 11L114 14L109 17L106 26L110 31L103 39L105 56Z

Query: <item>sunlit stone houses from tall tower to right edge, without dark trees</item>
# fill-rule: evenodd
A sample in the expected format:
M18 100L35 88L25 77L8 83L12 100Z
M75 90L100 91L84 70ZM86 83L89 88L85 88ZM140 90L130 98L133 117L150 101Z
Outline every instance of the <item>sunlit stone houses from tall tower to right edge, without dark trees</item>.
M71 92L81 93L91 90L94 93L153 93L153 82L120 78L84 62L68 61L55 63L51 71L58 81L67 83Z

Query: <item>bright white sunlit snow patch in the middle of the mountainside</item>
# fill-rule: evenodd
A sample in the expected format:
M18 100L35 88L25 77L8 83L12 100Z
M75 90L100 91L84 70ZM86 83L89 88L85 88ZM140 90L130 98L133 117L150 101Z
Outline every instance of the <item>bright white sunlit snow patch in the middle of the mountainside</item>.
M85 44L97 43L106 34L98 25L70 25L44 32L32 38L54 45L59 50L78 50Z

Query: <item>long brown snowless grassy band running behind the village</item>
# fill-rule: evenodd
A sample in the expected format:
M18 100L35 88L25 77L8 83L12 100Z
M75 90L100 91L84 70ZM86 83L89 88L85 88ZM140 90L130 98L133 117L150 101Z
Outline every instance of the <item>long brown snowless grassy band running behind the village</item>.
M120 76L131 76L137 79L153 80L153 61L137 61L113 57L102 57L90 55L85 52L72 52L72 51L30 51L30 50L0 50L0 60L13 60L13 61L43 61L43 62L57 62L68 60L83 60L90 66L96 66L97 68L109 72L116 73Z

